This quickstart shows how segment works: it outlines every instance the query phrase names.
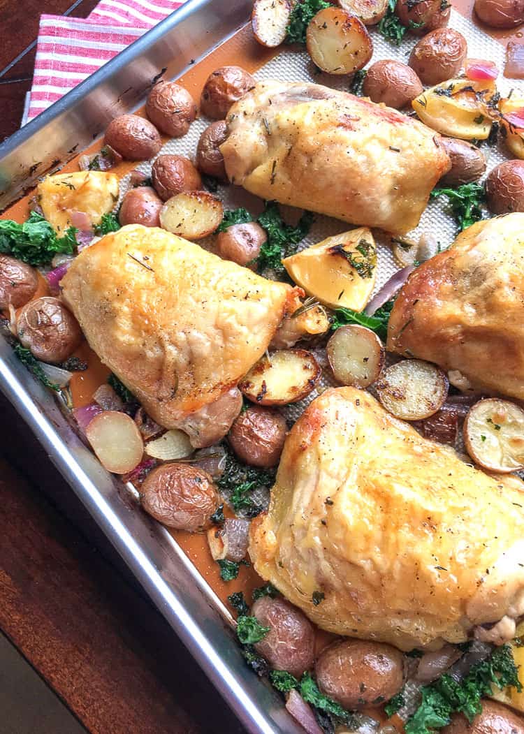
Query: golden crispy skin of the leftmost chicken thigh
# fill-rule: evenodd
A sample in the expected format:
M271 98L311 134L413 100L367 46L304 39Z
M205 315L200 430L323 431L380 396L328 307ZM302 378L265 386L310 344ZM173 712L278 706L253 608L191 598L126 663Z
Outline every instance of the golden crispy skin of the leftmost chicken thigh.
M236 386L301 292L141 225L87 247L61 285L91 348L166 428Z

